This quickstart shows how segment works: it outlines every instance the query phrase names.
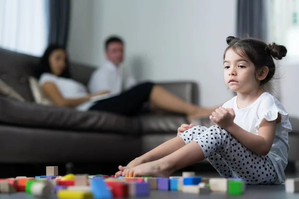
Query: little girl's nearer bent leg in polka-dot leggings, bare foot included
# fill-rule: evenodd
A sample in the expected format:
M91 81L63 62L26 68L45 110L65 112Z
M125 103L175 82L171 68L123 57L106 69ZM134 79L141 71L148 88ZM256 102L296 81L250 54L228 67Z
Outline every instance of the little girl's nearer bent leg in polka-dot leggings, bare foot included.
M220 157L213 157L215 153ZM221 175L242 178L248 184L272 184L277 180L276 170L268 156L251 152L218 126L211 126L192 142L164 158L125 170L124 175L167 177L204 158Z

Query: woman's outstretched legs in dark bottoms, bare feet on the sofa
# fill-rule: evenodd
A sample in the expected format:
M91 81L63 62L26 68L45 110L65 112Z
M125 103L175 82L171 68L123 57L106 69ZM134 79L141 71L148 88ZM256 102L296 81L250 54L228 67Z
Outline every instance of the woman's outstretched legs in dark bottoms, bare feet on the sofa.
M189 119L208 117L215 108L205 109L187 103L152 83L140 84L119 96L100 100L90 110L102 110L133 116L141 110L147 101L157 107L176 113L185 114Z

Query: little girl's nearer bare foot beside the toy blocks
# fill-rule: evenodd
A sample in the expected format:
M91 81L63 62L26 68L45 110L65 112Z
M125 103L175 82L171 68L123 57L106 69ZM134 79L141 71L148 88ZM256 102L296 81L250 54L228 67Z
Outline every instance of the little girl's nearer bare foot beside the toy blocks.
M123 171L124 177L141 177L141 176L152 176L168 178L173 171L167 166L161 163L159 160L148 162L145 164L138 165L133 168L128 168Z

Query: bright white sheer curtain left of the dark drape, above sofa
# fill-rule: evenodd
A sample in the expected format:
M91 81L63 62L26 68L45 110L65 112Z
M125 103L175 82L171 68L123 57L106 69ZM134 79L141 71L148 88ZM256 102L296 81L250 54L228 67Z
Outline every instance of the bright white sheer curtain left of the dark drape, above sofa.
M0 48L41 56L48 44L46 0L0 0Z

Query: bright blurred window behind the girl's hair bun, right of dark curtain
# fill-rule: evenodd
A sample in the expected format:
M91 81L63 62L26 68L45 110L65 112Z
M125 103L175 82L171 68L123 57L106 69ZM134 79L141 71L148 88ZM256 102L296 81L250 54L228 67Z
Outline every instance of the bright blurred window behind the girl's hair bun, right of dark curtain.
M285 45L288 59L299 59L299 0L270 0L269 41Z

